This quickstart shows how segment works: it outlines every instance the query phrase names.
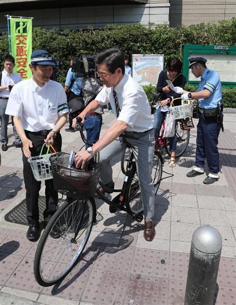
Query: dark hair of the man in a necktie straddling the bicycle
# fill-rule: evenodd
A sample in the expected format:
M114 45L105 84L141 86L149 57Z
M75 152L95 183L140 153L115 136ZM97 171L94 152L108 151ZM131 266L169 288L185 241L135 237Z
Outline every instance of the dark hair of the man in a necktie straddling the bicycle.
M106 64L108 71L112 74L115 73L117 68L120 68L122 74L124 74L124 54L121 50L116 48L110 48L103 50L96 55L96 64Z

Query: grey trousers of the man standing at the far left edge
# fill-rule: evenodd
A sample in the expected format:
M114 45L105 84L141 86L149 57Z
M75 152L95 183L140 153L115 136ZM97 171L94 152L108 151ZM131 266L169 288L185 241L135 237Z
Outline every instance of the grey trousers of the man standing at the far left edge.
M7 108L8 100L1 99L0 98L0 119L1 119L1 142L3 144L8 143L8 121L9 121L9 115L5 114L6 108ZM12 116L12 127L13 127L13 133L15 137L15 144L21 144L20 137L18 136L16 132L15 125L13 123L13 116Z

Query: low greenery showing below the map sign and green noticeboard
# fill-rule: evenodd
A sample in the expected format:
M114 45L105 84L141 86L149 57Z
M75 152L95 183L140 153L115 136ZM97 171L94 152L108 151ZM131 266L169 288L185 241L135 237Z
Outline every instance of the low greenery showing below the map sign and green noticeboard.
M144 91L148 97L149 103L153 100L153 92L156 91L156 87L153 85L143 86ZM189 92L194 92L196 87L187 83L184 87ZM222 88L222 102L225 108L236 108L236 87L235 88Z

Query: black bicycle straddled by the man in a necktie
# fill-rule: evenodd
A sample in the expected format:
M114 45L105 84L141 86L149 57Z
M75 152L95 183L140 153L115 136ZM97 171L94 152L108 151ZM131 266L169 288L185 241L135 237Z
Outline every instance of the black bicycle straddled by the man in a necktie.
M82 125L78 129L84 143L88 143L83 134ZM127 138L137 135L123 135ZM126 141L130 149L134 149ZM118 195L110 200L97 187L100 165L88 162L87 170L68 168L70 155L57 153L50 157L54 186L59 193L68 196L45 228L35 254L33 271L36 281L42 286L50 286L61 281L78 263L88 241L93 224L96 222L96 205L92 197L96 191L100 198L110 205L110 211L126 211L134 221L143 220L143 203L137 175L134 155L127 160L126 175L122 189L110 189L99 182L108 193ZM155 153L152 179L155 194L162 176L162 157Z

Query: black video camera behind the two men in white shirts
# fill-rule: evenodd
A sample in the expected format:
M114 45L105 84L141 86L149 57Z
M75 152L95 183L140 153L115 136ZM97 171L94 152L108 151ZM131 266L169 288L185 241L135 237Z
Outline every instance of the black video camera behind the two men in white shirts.
M76 62L73 61L71 70L76 74L76 77L96 78L96 64L93 57L81 55Z

